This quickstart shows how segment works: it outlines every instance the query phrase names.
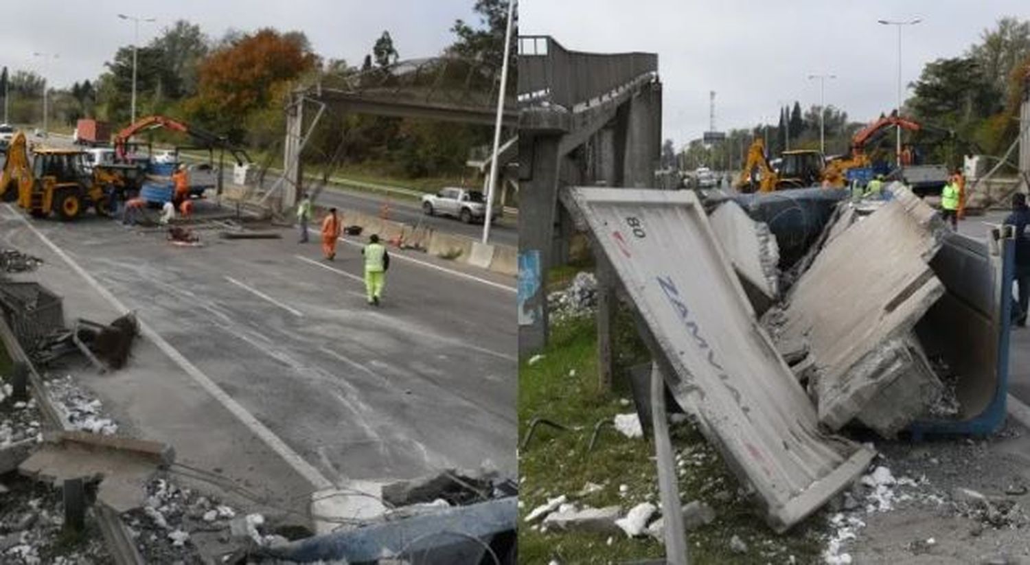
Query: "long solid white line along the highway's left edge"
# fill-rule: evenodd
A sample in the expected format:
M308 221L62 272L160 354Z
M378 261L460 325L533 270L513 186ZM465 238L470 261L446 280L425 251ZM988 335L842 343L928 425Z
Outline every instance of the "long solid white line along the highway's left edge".
M13 210L10 205L7 205L9 210ZM115 310L122 313L128 313L130 310L125 307L109 290L104 288L92 275L85 272L81 267L75 262L63 249L58 247L54 242L52 242L46 236L40 233L31 222L25 217L19 215L19 218L25 222L26 226L36 235L52 251L57 253L68 267L71 267L73 271L78 273L85 282L93 287L101 296L103 296ZM201 387L204 388L211 396L214 396L221 405L226 407L230 413L233 414L243 425L245 425L250 431L252 431L258 437L260 437L265 444L274 451L279 457L282 457L286 463L289 464L304 479L306 479L312 486L321 490L333 488L333 482L325 478L314 466L305 461L297 452L290 449L282 439L279 438L272 430L268 429L265 424L261 423L260 420L253 417L246 409L244 409L239 402L237 402L232 396L230 396L226 391L214 383L207 375L204 375L196 365L190 362L181 353L178 352L171 344L165 341L157 331L154 331L146 322L143 320L139 321L140 332L144 338L153 342L162 351L168 355L173 361L176 362L182 370L184 370L190 377L194 379Z

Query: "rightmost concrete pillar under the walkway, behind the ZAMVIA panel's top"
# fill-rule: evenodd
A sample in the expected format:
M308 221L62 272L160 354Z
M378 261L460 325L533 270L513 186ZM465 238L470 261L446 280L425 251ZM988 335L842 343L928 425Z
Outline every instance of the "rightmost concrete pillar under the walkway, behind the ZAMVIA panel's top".
M616 117L617 129L620 117ZM653 188L654 172L661 157L661 84L653 82L641 90L629 101L624 119L622 185Z

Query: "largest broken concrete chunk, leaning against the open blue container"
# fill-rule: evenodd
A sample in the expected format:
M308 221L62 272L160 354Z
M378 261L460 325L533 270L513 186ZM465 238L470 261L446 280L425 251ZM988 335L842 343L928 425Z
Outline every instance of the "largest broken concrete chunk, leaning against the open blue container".
M898 340L906 340L945 293L928 264L941 246L935 218L918 198L899 190L827 243L787 296L775 324L778 339L809 340L818 365L813 390L819 420L830 429L856 418L897 379L924 374L921 356ZM890 401L889 411L912 419L924 405L916 396ZM878 413L869 420L887 422L882 431L893 435L900 422L885 418Z

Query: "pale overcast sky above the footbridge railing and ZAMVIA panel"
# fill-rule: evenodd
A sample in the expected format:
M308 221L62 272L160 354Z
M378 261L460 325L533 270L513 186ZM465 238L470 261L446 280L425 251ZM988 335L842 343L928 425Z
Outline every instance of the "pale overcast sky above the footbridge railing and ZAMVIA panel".
M716 128L776 123L779 107L798 100L826 104L868 121L897 100L897 28L877 20L923 22L902 31L902 78L923 65L956 57L998 17L1030 19L1028 0L524 0L521 34L552 35L565 48L658 54L663 83L663 137L677 146L709 128L709 91L716 91Z

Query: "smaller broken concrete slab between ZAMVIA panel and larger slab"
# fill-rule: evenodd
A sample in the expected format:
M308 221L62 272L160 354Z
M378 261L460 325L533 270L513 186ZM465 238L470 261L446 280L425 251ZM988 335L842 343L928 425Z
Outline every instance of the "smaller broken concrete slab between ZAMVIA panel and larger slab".
M768 225L751 219L735 202L716 208L709 221L722 250L745 281L752 306L764 312L780 296L780 248Z

